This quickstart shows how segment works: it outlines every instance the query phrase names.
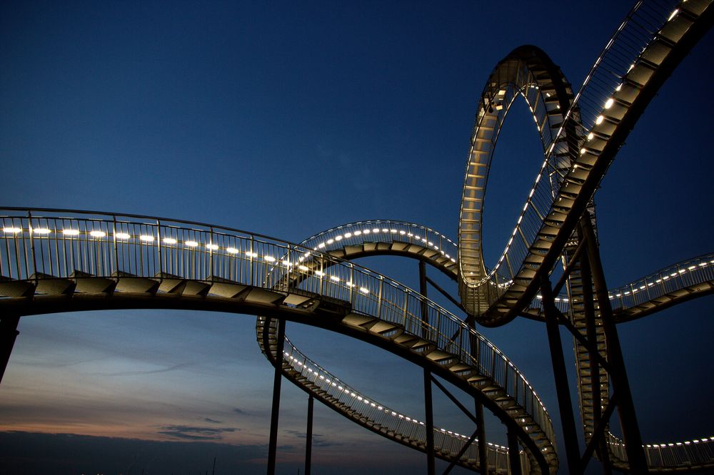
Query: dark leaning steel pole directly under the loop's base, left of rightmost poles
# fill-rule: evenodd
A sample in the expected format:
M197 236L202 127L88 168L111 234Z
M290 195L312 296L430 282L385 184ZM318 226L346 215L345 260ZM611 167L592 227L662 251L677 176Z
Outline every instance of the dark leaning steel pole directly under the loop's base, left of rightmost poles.
M580 473L580 449L578 437L575 432L575 417L573 405L570 402L570 388L568 387L568 373L565 371L565 357L563 357L563 342L560 340L560 327L555 312L553 290L550 281L543 277L540 285L540 295L543 297L543 313L545 313L545 330L548 332L548 345L550 346L550 361L553 363L553 377L555 378L555 391L558 396L558 411L560 423L563 426L563 439L565 439L565 457L568 460L568 473Z

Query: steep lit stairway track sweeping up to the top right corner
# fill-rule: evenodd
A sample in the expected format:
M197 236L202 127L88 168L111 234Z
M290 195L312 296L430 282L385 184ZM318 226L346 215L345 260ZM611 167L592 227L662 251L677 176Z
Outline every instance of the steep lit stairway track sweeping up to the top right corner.
M473 297L462 293L462 300L478 302L471 309L481 314L483 325L503 325L535 297L541 277L548 275L563 253L629 131L666 78L708 31L713 17L708 0L672 6L642 1L615 31L546 150L546 159L501 259L488 278L463 281L473 288ZM635 61L628 64L622 58ZM489 94L487 88L485 97L491 97ZM479 125L477 121L475 136ZM547 170L551 166L558 168L551 163L568 166L562 178L555 180L557 193L553 193L553 182L544 179L550 176ZM467 171L467 181L468 175ZM480 246L461 244L472 250ZM461 255L464 252L461 249ZM478 270L474 267L469 272Z

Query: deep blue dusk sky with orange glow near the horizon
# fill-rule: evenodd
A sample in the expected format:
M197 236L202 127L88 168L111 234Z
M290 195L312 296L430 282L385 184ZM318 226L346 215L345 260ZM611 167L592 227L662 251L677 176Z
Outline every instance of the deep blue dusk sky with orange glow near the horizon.
M493 66L533 44L577 89L629 9L620 1L4 1L0 206L155 215L291 242L391 218L456 239L473 118ZM709 33L595 195L610 287L714 250L712 53ZM489 178L489 267L541 160L521 101ZM418 288L416 261L359 263ZM712 302L618 327L645 443L714 435L713 414L699 410L714 397ZM562 446L545 327L517 319L480 330L533 384ZM254 316L59 313L23 317L19 331L0 385L0 431L23 433L0 432L0 472L20 457L59 466L92 446L87 453L105 465L87 456L56 473L194 473L210 470L213 457L217 474L264 473L273 368ZM373 399L423 418L420 368L324 330L288 323L286 333ZM575 403L572 343L563 340ZM435 397L435 424L471 434L458 409L436 389ZM279 473L302 467L306 407L306 394L283 382ZM420 452L321 404L314 424L313 473L426 471ZM488 424L504 444L498 422ZM562 447L560 465L565 473Z

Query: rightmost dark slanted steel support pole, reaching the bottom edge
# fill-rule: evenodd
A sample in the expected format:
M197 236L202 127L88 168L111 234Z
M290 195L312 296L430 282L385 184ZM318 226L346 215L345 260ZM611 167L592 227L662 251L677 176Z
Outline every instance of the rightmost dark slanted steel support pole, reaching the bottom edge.
M595 285L595 295L600 306L600 318L603 321L603 331L605 332L605 344L608 348L608 363L610 364L610 375L613 378L613 386L618 393L618 416L620 417L620 427L625 439L625 451L630 464L630 471L633 474L646 474L648 471L645 449L642 446L642 436L640 426L635 414L635 403L630 392L630 382L625 369L622 348L618 330L615 328L613 320L613 309L610 305L608 287L605 282L605 272L603 263L600 261L600 250L595 242L595 232L590 224L590 216L585 213L582 220L583 231L588 240L588 257L590 258L590 271L593 274L593 284Z

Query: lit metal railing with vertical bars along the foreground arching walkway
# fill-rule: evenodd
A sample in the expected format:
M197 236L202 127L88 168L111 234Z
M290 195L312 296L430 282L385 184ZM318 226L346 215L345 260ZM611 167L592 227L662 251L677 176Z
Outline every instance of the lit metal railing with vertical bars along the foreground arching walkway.
M481 334L418 292L352 262L246 231L130 215L86 213L77 218L68 213L0 210L0 274L36 283L128 276L228 280L266 290L279 287L285 275L299 275L296 287L282 290L329 297L345 302L352 312L392 322L493 380L525 411L517 422L545 449L543 456L555 457L550 417L523 374ZM329 273L301 265L300 258L306 256L329 262Z

